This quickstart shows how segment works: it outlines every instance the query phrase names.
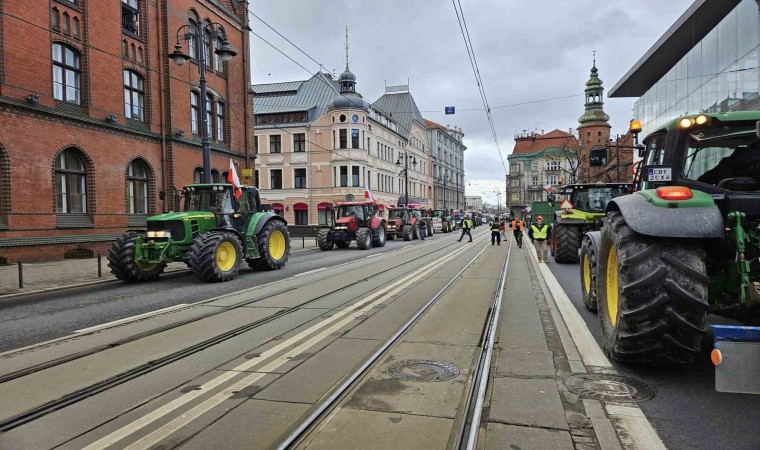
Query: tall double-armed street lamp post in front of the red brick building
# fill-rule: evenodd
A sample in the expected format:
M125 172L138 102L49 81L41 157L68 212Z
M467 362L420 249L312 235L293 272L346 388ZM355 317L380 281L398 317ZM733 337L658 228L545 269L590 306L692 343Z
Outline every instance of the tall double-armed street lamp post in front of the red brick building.
M177 44L174 51L169 54L169 58L174 60L178 66L185 64L185 61L193 55L186 55L182 52L182 46L179 43L180 32L185 29L182 39L190 42L195 41L195 51L198 53L198 72L200 73L201 88L201 148L203 150L203 182L211 183L211 141L208 135L208 101L206 100L206 58L211 55L206 54L206 43L211 47L216 39L221 39L222 45L214 53L227 62L231 60L237 52L232 49L227 41L227 34L221 24L209 23L205 25L182 25L177 29Z

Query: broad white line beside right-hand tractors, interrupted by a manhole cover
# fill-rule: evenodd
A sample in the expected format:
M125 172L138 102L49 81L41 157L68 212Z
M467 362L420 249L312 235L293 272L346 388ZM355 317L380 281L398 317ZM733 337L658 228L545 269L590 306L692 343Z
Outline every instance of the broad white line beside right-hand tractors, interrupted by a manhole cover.
M610 360L602 352L601 347L586 326L586 322L575 309L573 302L562 289L549 266L537 262L536 252L533 251L535 247L529 239L523 240L523 244L527 244L525 247L528 249L533 264L539 268L546 285L549 287L554 303L557 305L562 320L578 348L583 363L586 366L598 366L614 371ZM619 406L605 403L604 407L612 419L613 427L618 432L618 438L625 448L641 450L665 450L667 448L638 406Z

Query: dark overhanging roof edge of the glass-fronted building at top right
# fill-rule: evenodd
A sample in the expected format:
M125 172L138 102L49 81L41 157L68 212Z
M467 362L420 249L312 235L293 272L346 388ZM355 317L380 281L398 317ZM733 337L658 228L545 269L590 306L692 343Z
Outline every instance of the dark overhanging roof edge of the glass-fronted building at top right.
M712 31L741 0L696 0L609 91L641 97Z

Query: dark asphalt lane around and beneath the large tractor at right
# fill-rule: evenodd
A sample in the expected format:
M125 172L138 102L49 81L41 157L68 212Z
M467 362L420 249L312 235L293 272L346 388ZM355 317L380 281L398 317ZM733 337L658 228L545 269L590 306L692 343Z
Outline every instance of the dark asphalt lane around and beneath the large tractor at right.
M599 319L581 301L580 269L577 264L551 268L562 288L600 341ZM708 322L721 323L709 316ZM726 394L715 391L715 368L710 363L712 336L705 337L699 361L687 367L641 367L613 362L623 375L641 380L657 395L639 407L663 442L672 449L760 448L760 395Z

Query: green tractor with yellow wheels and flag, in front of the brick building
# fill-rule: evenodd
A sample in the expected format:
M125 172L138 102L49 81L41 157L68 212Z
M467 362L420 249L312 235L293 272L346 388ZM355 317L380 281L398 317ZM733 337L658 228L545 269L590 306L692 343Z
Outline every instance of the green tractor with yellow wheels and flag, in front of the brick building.
M255 270L284 267L290 254L285 219L266 211L255 187L241 191L235 198L230 184L185 187L184 211L150 217L145 230L114 242L111 273L127 282L150 281L166 264L181 261L203 281L229 281L243 260Z

